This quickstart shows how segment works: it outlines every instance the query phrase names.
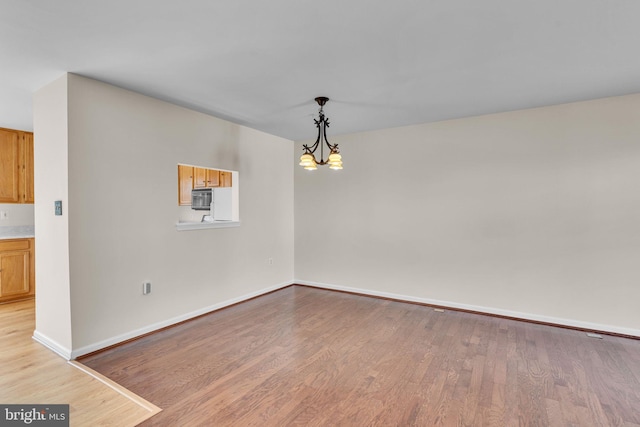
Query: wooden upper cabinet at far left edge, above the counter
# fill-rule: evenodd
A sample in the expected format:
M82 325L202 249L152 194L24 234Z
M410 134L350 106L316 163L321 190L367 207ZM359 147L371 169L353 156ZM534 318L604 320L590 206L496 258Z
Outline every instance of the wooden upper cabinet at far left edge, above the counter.
M0 203L33 201L33 133L0 128Z

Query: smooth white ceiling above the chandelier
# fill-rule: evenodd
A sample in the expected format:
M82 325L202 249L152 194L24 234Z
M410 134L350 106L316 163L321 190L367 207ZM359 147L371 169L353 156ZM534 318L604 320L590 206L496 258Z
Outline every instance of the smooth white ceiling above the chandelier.
M293 140L640 92L638 0L0 0L0 127L77 73ZM330 138L329 138L330 139Z

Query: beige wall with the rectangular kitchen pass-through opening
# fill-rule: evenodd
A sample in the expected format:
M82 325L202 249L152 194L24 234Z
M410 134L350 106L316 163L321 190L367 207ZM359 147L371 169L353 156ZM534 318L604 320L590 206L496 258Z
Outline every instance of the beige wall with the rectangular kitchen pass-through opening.
M290 141L75 75L68 92L72 356L291 283ZM178 163L239 172L240 227L176 231Z

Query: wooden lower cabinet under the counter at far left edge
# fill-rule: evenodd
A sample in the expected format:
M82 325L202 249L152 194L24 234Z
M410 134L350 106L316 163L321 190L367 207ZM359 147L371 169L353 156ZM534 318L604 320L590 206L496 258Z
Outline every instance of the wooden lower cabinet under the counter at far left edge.
M0 240L0 302L35 295L34 239Z

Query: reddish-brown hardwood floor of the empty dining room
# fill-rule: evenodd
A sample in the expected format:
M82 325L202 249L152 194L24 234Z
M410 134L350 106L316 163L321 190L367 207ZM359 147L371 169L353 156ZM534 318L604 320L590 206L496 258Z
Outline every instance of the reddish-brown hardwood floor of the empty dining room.
M143 426L640 426L640 341L293 286L82 360Z

